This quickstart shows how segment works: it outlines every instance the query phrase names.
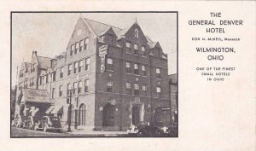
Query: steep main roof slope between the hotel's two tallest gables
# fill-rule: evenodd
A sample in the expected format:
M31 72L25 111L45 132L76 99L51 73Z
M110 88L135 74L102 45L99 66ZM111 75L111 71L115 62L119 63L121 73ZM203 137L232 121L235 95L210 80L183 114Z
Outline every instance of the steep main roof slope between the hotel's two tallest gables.
M84 18L84 20L86 20L86 22L89 24L89 26L91 27L93 32L96 33L97 36L102 36L102 34L107 32L108 29L111 28L111 27L113 29L113 32L115 32L116 34L122 30L119 27L110 26L108 24L104 24L104 23L98 22L96 20L89 20L89 19L86 19L86 18Z

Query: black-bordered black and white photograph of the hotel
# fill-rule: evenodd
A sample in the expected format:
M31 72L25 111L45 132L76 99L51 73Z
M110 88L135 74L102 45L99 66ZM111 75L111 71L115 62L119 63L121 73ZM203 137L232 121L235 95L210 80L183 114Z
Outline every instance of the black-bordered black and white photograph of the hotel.
M11 137L177 137L177 12L12 12Z

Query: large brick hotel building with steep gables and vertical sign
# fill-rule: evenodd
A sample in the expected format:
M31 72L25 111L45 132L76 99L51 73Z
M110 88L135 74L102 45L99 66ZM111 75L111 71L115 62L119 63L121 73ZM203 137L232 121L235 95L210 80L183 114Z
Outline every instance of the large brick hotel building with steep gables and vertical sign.
M18 96L47 91L51 107L38 110L67 121L72 93L72 121L80 128L125 131L154 121L157 107L170 107L167 73L167 55L137 21L121 29L79 18L65 52L47 58L33 51L31 63L22 64Z

